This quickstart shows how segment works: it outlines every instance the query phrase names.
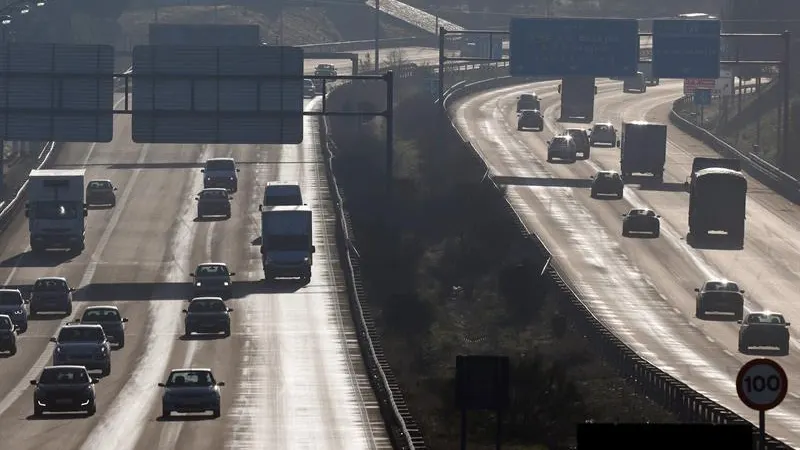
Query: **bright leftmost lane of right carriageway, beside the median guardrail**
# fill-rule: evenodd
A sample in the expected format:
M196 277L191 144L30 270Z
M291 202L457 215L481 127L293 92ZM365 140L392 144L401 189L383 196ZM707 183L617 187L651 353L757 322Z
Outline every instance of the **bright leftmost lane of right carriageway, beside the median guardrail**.
M620 239L619 214L629 206L609 209L605 205L626 201L591 200L586 186L588 176L594 170L587 167L588 164L545 164L546 147L543 141L546 137L539 137L540 133L515 131L514 114L511 112L514 97L531 88L533 86L529 85L493 91L458 105L456 117L462 132L467 133L473 144L478 144L479 151L489 161L496 176L519 177L520 182L527 183L532 178L546 179L539 180L539 184L556 185L511 186L508 188L509 199L551 248L573 285L606 324L643 357L679 378L691 380L695 387L710 394L710 397L733 394L735 389L732 380L739 365L735 358L725 355L714 342L709 342L703 333L692 326L690 320L664 301L659 295L658 285L652 283L652 277L637 267L631 253L625 253L625 247L630 245L640 248L656 246L659 258L664 258L661 255L669 253L658 248L664 245L663 242ZM507 104L508 111L497 108L498 103ZM550 110L548 115L552 116L555 107L547 109ZM552 119L549 122L552 128ZM580 166L584 166L581 170L585 172L577 169ZM549 181L553 178L557 180ZM626 191L626 196L630 199L628 191L630 189ZM669 262L664 267L673 271L686 265L684 260L678 261ZM661 267L658 263L652 265ZM667 279L677 279L678 284L686 276L667 275L671 275ZM692 301L691 296L687 301ZM731 362L720 364L718 361L724 357L730 358ZM714 364L708 361L714 361ZM727 370L728 367L730 370ZM731 388L720 391L722 386ZM776 425L776 428L781 426ZM787 429L786 425L783 429ZM786 436L790 433L775 434Z

